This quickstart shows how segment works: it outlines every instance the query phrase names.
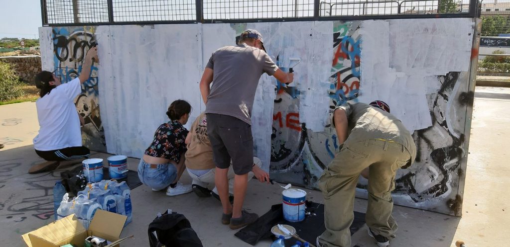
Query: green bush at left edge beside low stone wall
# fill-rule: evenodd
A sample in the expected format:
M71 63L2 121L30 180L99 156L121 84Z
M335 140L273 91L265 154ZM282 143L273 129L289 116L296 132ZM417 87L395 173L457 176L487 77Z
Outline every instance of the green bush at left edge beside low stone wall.
M24 95L18 76L9 63L0 61L0 101L15 99Z

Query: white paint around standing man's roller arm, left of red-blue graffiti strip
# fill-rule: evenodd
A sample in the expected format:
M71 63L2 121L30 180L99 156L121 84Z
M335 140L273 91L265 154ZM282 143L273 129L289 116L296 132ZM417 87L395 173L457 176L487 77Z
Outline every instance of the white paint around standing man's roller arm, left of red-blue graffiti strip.
M287 71L290 58L301 59L294 67L292 84L300 92L299 121L306 123L310 130L322 131L329 109L327 89L333 59L333 22L248 23L246 28L262 34L269 56L284 70ZM251 114L256 155L262 160L264 170L269 169L271 154L268 133L272 132L275 86L274 77L266 74L261 77Z

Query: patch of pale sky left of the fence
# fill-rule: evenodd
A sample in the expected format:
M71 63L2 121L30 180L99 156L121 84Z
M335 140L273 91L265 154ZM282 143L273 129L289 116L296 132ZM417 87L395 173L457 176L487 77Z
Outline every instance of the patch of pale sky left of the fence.
M0 0L0 39L38 39L41 21L40 0Z

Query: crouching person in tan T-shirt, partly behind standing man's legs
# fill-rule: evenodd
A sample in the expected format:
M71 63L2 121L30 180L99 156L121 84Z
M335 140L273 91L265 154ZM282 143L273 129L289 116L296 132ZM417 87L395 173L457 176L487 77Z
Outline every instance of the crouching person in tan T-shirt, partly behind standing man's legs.
M213 161L213 147L207 136L207 116L202 113L191 125L190 132L186 136L186 170L193 179L193 192L199 197L210 197L211 195L220 200L218 190L214 186L215 167ZM248 173L248 181L255 176L260 182L269 181L269 174L260 167L262 162L259 158L253 157L253 166L251 172ZM228 192L234 195L234 169L232 166L228 169ZM210 185L214 188L209 190ZM226 222L226 221L225 221ZM224 224L228 224L225 223Z

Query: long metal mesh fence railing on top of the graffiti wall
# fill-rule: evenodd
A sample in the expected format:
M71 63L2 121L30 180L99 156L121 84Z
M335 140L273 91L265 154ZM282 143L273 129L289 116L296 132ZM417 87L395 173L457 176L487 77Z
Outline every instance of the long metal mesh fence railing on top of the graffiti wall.
M40 1L43 25L438 18L479 14L479 0Z

